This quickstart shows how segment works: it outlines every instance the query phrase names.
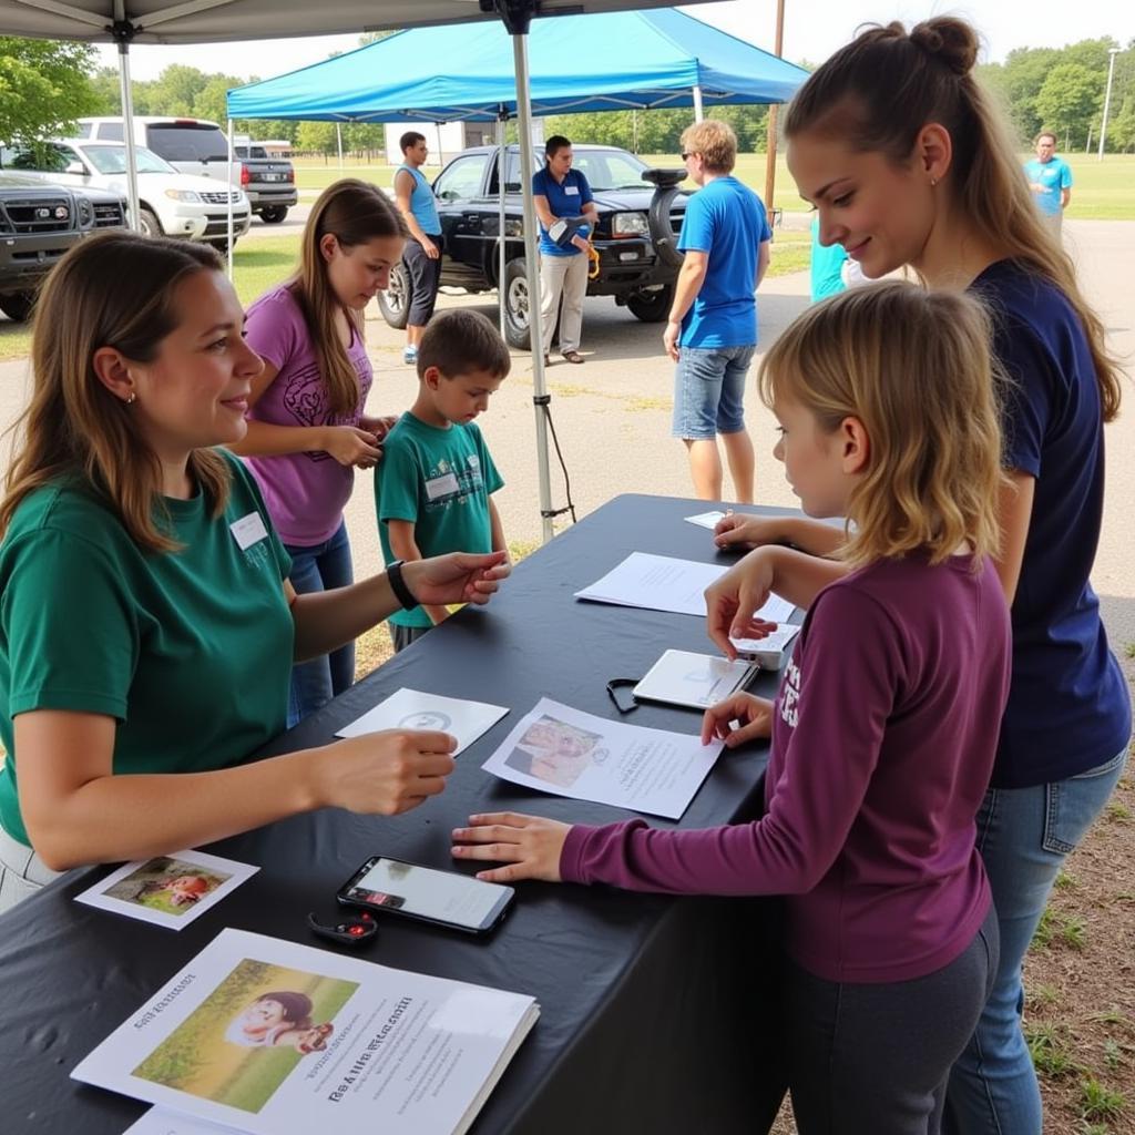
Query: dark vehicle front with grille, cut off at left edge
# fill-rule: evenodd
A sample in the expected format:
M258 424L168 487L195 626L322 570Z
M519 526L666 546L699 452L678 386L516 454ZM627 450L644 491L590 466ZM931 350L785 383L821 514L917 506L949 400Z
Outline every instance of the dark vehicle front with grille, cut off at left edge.
M0 174L0 311L27 319L40 281L73 244L125 226L126 199L117 193Z

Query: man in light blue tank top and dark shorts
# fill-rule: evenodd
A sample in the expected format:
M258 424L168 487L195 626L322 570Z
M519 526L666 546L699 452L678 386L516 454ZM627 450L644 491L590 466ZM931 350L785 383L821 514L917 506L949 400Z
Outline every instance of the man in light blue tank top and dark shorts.
M442 280L442 221L437 216L434 190L421 174L429 149L426 137L406 131L398 140L402 165L394 171L394 199L410 229L410 239L402 253L402 262L410 276L410 311L406 316L406 345L402 361L418 362L418 345L426 325L434 314L437 286Z

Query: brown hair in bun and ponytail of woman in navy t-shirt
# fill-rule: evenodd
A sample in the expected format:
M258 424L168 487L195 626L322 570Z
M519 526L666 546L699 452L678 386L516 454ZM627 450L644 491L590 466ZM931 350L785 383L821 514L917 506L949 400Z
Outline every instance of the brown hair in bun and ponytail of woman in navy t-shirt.
M834 134L852 150L905 165L918 132L942 125L953 144L948 183L959 212L984 241L1068 299L1092 352L1103 420L1111 421L1121 387L1103 323L1040 218L1003 116L973 76L976 60L977 34L955 17L916 24L909 35L900 23L871 27L808 77L789 106L784 134Z

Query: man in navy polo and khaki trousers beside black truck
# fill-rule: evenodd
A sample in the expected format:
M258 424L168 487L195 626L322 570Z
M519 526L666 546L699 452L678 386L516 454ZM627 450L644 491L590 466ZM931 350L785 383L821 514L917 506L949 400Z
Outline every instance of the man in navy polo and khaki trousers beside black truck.
M540 316L544 345L556 333L560 297L564 318L560 325L560 353L568 362L582 362L579 353L587 294L588 236L599 218L591 186L571 168L571 142L553 134L544 145L544 169L532 176L532 202L540 221ZM564 224L557 224L564 221ZM544 352L548 362L548 352Z

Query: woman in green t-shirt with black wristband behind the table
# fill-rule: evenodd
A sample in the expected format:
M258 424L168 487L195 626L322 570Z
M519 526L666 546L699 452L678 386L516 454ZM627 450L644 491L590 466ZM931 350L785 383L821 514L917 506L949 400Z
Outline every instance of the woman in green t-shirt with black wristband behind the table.
M360 287L369 271L359 266ZM504 554L296 596L241 462L260 359L216 253L112 233L40 299L0 503L0 909L57 871L145 859L320 807L440 792L455 741L393 730L266 760L293 661L403 604L486 603Z

